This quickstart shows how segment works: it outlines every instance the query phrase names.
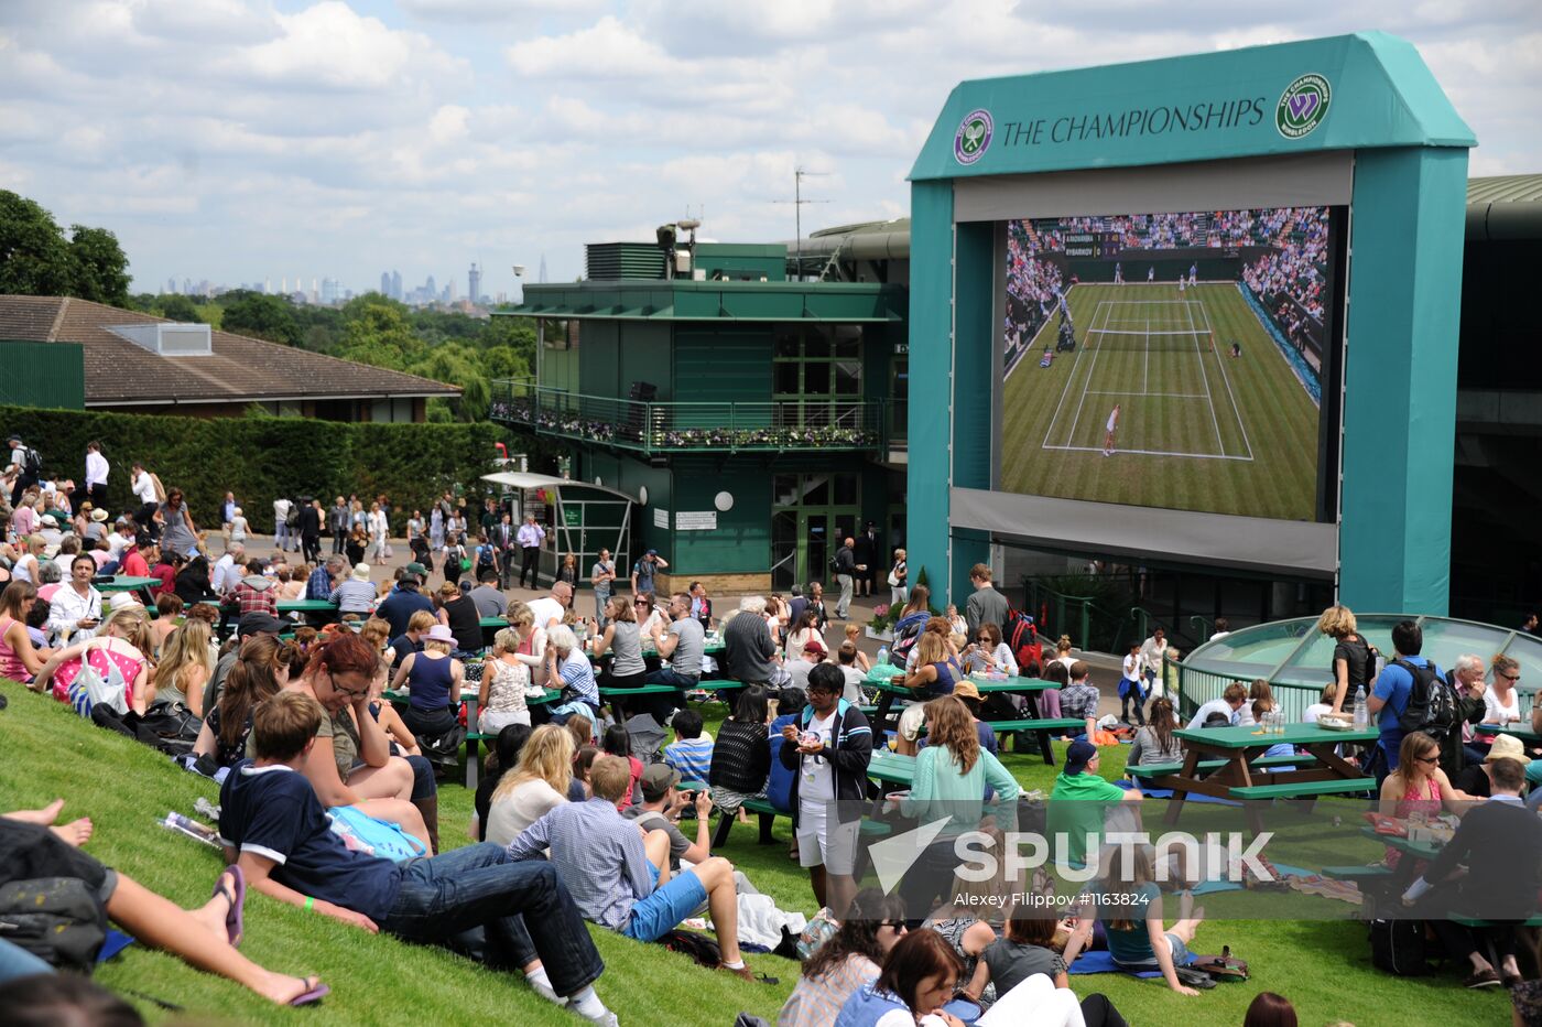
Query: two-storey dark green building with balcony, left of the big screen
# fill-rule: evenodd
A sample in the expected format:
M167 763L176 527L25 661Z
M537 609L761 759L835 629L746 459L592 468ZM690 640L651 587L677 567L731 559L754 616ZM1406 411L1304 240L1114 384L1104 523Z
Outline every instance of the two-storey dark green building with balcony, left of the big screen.
M631 557L657 549L671 586L827 580L868 521L887 566L905 532L908 290L848 237L791 261L780 244L591 245L586 281L527 285L495 315L535 318L538 341L535 378L495 382L493 416L634 497ZM588 571L598 543L583 547Z

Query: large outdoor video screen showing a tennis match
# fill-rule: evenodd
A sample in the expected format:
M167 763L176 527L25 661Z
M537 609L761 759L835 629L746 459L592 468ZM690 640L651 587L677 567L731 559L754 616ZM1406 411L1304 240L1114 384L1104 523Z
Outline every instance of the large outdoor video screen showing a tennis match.
M1329 207L1008 221L998 489L1331 520Z

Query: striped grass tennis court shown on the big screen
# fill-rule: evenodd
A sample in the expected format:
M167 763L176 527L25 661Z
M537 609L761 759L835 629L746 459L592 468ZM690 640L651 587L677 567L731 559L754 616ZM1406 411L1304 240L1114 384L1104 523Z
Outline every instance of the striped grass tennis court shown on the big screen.
M1317 406L1235 285L1075 285L1067 304L1076 352L1038 365L1053 316L1002 386L1002 489L1312 518Z

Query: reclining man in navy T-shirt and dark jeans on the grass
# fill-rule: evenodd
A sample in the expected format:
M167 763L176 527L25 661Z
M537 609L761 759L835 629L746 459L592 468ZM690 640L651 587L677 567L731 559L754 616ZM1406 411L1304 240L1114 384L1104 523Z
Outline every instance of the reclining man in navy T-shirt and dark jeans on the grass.
M256 760L231 768L219 793L225 859L247 882L279 902L413 942L481 930L490 964L520 967L543 998L614 1025L594 992L600 953L550 865L512 862L497 845L399 865L348 851L299 773L322 716L302 691L279 692L251 714ZM526 922L538 925L534 934Z

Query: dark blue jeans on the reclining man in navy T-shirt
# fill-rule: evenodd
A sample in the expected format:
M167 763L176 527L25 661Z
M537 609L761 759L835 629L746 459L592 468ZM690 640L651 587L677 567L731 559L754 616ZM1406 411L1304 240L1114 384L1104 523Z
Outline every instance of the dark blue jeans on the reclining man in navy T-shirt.
M557 870L513 862L501 845L456 848L401 867L401 891L381 928L413 942L486 931L487 962L521 968L540 959L558 995L594 984L604 964ZM535 924L532 934L526 924Z

